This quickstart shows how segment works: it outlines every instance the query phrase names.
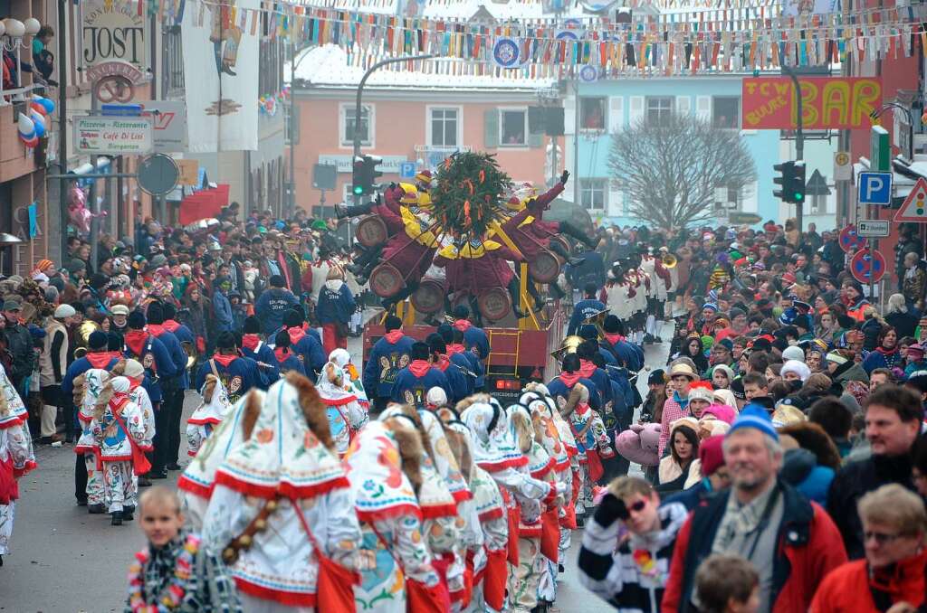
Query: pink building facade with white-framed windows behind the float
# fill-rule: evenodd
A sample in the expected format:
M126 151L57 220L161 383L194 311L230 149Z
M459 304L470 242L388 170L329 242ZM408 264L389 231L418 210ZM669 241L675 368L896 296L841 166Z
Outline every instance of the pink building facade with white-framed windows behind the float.
M336 82L320 82L326 75ZM317 164L337 167L335 189L324 193L325 206L349 201L355 83L359 79L346 76L354 75L300 71L291 86L297 122L296 205L313 214L318 214L313 207L320 205L323 196L313 181ZM549 83L523 81L513 85L505 80L501 85L502 80L484 77L435 80L430 76L434 75L382 71L367 81L362 153L383 158L379 181L412 182L400 173L405 170L408 176L413 168L435 169L446 156L461 149L495 154L516 183L531 181L542 188L552 175L559 174L552 171L547 159L552 137L531 133L528 126L528 107L539 105L538 89L549 87ZM562 137L557 140L562 150ZM557 167L563 167L562 160Z

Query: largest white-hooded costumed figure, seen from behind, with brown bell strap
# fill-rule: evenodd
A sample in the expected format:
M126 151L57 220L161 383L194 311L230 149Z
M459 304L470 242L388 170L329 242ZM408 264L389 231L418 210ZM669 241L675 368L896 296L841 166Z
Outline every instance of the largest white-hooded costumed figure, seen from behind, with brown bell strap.
M220 432L201 453L211 456ZM325 405L308 379L290 373L264 394L248 441L215 471L203 527L244 610L351 610L361 530Z

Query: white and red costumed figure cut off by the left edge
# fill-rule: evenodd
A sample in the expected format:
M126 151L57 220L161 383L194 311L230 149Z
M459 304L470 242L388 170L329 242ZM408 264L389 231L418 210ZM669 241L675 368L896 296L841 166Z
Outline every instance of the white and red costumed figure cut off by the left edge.
M0 366L0 566L9 554L19 478L37 468L29 435L29 413Z

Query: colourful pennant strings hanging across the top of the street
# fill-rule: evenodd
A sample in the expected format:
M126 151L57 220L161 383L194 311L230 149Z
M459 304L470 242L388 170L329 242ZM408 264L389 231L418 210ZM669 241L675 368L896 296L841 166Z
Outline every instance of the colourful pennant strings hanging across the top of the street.
M157 3L161 19L180 18L180 0L140 1L148 2L149 8ZM357 0L318 1L352 4ZM223 27L250 35L260 32L271 38L292 38L299 46L335 44L346 52L353 66L369 66L389 56L431 54L456 60L449 66L462 62L483 65L473 74L507 69L504 76L516 79L562 77L565 72L578 73L584 66L596 69L596 78L825 66L920 56L927 48L927 6L922 5L853 15L773 17L759 7L753 11L754 17L744 17L743 11L712 10L689 14L693 19L679 19L679 15L635 17L630 24L609 19L578 24L536 19L498 25L403 18L272 0L262 0L256 9L229 6L222 0L187 0L184 10L191 9L199 26L206 22L208 11L210 19L218 11ZM265 28L260 27L261 19L266 19ZM571 27L561 27L565 25ZM434 62L402 63L392 68L418 70L431 64Z

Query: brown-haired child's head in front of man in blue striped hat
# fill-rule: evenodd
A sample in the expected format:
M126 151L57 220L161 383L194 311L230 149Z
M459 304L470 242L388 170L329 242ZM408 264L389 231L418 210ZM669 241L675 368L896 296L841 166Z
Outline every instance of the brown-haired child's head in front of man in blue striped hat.
M695 592L701 613L756 613L759 575L740 556L708 557L695 572Z

